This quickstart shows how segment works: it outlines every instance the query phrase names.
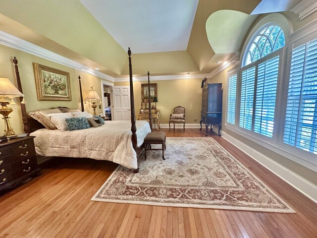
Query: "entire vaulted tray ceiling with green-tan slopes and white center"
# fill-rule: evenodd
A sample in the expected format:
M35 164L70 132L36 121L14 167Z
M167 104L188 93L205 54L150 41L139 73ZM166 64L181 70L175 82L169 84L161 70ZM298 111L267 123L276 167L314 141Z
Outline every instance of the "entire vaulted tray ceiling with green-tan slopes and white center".
M127 47L135 75L210 73L260 1L0 0L0 30L113 77L128 74Z

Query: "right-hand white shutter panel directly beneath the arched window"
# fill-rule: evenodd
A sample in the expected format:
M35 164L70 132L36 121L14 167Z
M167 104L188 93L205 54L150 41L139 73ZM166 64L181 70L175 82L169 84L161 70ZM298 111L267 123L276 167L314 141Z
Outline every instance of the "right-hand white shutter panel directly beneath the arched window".
M279 56L258 66L254 132L272 137Z

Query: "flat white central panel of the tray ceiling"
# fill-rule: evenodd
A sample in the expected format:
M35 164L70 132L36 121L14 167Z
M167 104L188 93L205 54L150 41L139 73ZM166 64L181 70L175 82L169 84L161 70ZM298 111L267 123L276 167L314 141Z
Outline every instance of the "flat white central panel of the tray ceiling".
M80 0L123 49L185 51L198 0ZM131 4L132 3L132 4Z

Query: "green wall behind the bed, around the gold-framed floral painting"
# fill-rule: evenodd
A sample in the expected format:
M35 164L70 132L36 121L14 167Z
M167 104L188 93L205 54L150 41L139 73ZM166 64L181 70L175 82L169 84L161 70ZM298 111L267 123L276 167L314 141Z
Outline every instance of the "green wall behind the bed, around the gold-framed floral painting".
M0 45L0 76L7 77L10 81L17 86L16 77L14 72L14 64L12 62L13 56L16 57L20 72L21 84L23 88L23 94L25 96L25 100L27 101L26 110L27 112L33 112L41 109L48 109L52 107L68 107L72 109L80 108L80 96L79 96L79 84L78 84L78 75L81 75L82 81L82 91L83 97L88 94L88 91L91 86L94 86L94 89L97 91L99 96L101 97L101 79L95 76L92 76L87 73L80 72L73 68L61 65L59 63L52 62L50 60L45 60L43 58L15 50L3 45ZM35 79L34 79L34 71L33 71L33 62L40 63L43 65L47 65L53 68L57 68L70 73L70 89L71 89L71 97L72 101L38 101L35 87ZM18 103L18 99L15 99L16 105L10 105L12 107L13 112L9 115L11 117L10 123L13 130L17 134L24 133L23 132L23 124L22 124L22 115L20 104ZM93 113L92 108L89 104L85 104L85 111L89 113ZM98 111L97 111L98 112ZM4 122L0 120L0 131L4 130ZM2 132L0 132L0 135Z

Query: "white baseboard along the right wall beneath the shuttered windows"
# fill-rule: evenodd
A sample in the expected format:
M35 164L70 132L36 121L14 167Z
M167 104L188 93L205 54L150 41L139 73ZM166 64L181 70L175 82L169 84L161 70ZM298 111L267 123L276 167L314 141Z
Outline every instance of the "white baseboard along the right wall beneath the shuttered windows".
M244 153L249 155L252 159L259 162L273 174L277 175L279 178L283 179L292 187L294 187L295 189L303 193L305 196L307 196L308 198L317 203L317 185L295 174L293 171L276 163L272 159L254 150L253 148L242 143L236 138L228 135L227 133L222 132L221 134L224 139L229 141L231 144L233 144L234 146L242 150Z

